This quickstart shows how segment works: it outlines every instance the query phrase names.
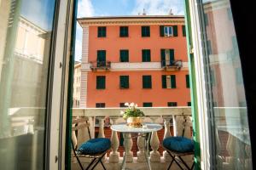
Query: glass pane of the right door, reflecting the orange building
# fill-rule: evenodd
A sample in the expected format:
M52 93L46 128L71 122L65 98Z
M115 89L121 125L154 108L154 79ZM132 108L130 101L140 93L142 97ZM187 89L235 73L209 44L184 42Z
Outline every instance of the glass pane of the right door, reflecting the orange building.
M223 168L228 162L226 168L252 169L251 162L244 163L251 159L251 144L230 1L203 0L201 16L209 121L213 122L212 157L216 158L212 167Z

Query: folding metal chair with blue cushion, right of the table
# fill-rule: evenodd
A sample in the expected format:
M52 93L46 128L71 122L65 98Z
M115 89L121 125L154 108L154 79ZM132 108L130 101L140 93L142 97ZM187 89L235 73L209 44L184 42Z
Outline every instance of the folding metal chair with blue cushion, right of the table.
M183 123L183 135L185 131L185 124L186 124L186 118L184 118ZM194 155L194 142L191 139L185 138L182 136L174 136L169 137L163 140L163 148L167 151L167 153L172 157L172 161L167 168L168 170L172 167L173 161L177 163L177 166L180 167L182 170L184 169L182 167L182 164L184 167L186 167L189 170L192 170L195 166L195 161L193 161L193 164L191 167L188 166L186 161L183 161L183 156L191 156Z

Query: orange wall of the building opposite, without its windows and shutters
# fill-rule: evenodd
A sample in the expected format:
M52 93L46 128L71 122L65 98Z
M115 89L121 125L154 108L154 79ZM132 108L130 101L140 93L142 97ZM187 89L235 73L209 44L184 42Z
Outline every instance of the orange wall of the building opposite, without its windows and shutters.
M125 20L125 19L124 19ZM172 20L172 19L170 19ZM152 21L152 22L151 22ZM153 106L167 106L167 102L177 102L177 106L187 106L190 102L189 88L186 88L187 67L186 37L183 37L184 20L180 23L154 24L154 19L137 24L92 24L83 25L83 56L82 56L82 84L86 92L81 92L81 101L86 107L96 107L96 103L105 103L106 107L119 107L120 103L135 102L143 106L143 102L152 102ZM106 26L107 36L97 37L97 27ZM119 37L119 26L129 27L129 37ZM142 37L141 26L150 26L150 37ZM160 37L160 26L177 26L177 37ZM182 59L184 65L181 71L163 71L161 67L150 68L142 62L142 49L150 49L151 62L161 61L160 49L173 48L175 59ZM97 50L106 50L106 60L112 65L119 63L119 50L129 50L129 63L143 63L147 69L127 67L110 71L86 71L85 65L95 62ZM140 71L138 71L140 70ZM129 88L119 88L119 76L129 76ZM143 75L151 75L152 88L143 89ZM162 75L176 75L177 88L162 88ZM96 76L106 76L106 88L96 89ZM86 81L85 81L86 79ZM87 82L84 84L84 82ZM86 95L84 95L86 94Z

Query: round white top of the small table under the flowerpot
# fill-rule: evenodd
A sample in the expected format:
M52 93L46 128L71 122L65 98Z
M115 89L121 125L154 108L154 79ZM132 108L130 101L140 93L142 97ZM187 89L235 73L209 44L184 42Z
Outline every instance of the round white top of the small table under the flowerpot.
M126 123L115 124L111 126L113 131L121 133L151 133L154 131L159 131L163 126L158 123L143 123L143 127L129 127Z

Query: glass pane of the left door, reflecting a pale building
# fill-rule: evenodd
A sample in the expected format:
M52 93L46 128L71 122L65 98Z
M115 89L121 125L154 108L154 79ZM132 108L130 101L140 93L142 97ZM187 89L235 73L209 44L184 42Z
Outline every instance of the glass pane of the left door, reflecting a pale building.
M0 1L1 169L44 169L55 0Z

